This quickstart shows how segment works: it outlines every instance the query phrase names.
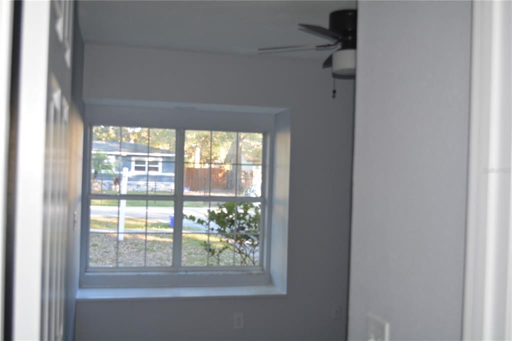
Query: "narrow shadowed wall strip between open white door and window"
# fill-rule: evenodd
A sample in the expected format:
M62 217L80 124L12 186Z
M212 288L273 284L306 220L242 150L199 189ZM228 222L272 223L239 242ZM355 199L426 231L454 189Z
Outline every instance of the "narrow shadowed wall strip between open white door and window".
M75 5L77 2L75 2ZM75 8L76 11L76 8ZM71 81L71 108L69 115L69 182L68 182L68 240L66 254L66 316L65 337L73 339L75 332L76 293L78 289L80 257L80 207L82 180L83 113L82 100L84 44L75 16L73 27L73 75ZM76 211L76 224L74 222Z

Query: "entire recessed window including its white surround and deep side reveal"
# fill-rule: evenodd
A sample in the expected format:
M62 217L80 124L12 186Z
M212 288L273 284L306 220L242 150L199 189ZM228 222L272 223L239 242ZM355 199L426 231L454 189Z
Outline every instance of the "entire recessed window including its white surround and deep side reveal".
M80 291L286 293L290 111L119 104L86 105Z

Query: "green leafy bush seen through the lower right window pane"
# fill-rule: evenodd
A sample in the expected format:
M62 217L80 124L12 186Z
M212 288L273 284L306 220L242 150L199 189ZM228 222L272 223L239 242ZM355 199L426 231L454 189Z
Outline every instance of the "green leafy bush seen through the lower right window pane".
M208 221L219 226L217 233L220 236L222 247L215 247L207 242L202 244L204 250L214 258L217 265L221 254L226 250L233 250L239 256L241 265L256 265L255 253L259 250L258 237L246 233L259 233L260 207L251 203L226 202L219 204L215 209L209 209L207 220L195 216L185 217L191 221L210 228ZM236 233L235 233L236 232Z

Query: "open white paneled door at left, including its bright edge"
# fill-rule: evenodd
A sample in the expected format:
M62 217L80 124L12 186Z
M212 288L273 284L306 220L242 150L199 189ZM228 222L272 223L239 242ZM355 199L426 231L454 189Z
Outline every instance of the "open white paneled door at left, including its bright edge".
M73 3L22 3L12 338L63 337Z

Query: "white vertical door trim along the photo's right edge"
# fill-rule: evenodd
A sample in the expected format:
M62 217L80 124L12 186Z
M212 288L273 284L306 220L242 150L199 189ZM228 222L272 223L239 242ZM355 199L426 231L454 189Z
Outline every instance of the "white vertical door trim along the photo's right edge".
M462 339L512 339L512 3L473 2Z

